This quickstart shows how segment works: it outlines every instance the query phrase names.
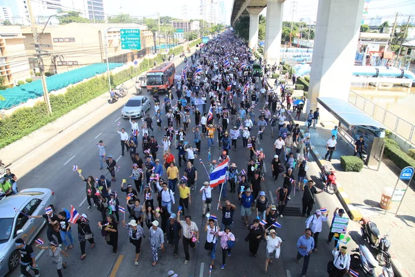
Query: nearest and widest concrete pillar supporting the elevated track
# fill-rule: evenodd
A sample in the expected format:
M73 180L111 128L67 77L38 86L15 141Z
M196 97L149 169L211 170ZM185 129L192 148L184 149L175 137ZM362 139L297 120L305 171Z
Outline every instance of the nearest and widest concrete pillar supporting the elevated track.
M349 98L364 3L365 0L318 2L306 114L310 109L315 111L319 96L346 101Z

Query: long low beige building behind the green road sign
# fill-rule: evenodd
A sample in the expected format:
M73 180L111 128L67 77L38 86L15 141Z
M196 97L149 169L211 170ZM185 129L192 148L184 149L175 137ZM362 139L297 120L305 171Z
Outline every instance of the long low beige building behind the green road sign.
M120 26L120 27L117 27ZM109 62L131 62L144 55L141 51L124 50L120 43L120 28L138 28L141 30L141 47L149 48L153 42L153 33L147 26L138 24L88 24L70 23L46 26L40 43L50 45L42 47L50 57L44 57L45 71L62 73L89 64L107 62L105 57L105 31L107 34ZM40 31L40 30L39 30ZM22 28L26 53L35 55L32 30ZM149 51L147 51L149 53ZM30 69L37 71L37 60L30 58Z

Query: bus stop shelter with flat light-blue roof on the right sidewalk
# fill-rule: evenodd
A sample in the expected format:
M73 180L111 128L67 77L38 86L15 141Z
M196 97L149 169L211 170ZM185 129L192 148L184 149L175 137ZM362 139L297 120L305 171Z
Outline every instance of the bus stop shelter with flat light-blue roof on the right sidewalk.
M351 146L360 136L363 136L365 164L378 166L385 144L385 126L347 101L332 97L318 97L317 102L339 121L338 134Z

